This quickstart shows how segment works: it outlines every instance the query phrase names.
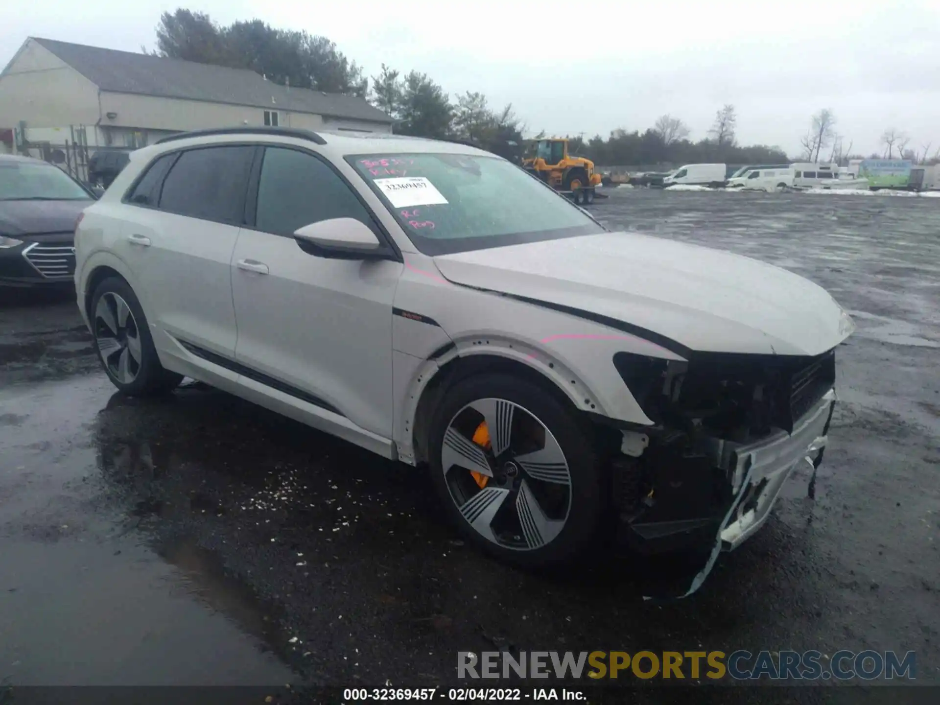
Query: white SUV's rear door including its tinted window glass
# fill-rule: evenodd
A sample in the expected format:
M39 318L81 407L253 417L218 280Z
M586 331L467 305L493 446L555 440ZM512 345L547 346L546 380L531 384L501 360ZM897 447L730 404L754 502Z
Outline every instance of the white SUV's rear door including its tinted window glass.
M231 257L243 224L254 146L221 145L165 155L128 199L119 257L154 328L158 350L172 336L205 356L233 358Z

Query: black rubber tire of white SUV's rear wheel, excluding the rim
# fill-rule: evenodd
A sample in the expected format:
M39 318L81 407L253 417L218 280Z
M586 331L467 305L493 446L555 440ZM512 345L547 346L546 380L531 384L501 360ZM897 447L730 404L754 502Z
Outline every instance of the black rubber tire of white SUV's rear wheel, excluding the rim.
M130 308L133 316L133 324L136 334L140 341L140 361L131 382L122 382L112 370L111 366L105 362L102 354L102 343L99 339L101 323L96 318L96 310L106 294L117 295ZM155 394L163 394L174 389L182 381L182 375L171 372L160 364L160 358L157 356L156 348L153 346L153 338L150 337L150 329L147 323L147 317L144 316L144 309L137 300L131 285L117 276L110 276L95 290L91 297L91 307L88 310L88 319L91 321L92 335L95 336L95 352L102 363L105 373L111 383L118 387L118 390L132 397L146 397Z

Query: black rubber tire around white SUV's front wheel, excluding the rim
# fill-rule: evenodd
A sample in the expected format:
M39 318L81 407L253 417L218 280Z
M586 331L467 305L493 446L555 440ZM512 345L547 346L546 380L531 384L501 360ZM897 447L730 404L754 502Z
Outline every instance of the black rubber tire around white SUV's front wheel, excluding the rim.
M551 431L569 464L571 505L565 525L554 540L530 550L514 550L484 538L457 507L448 489L442 449L451 420L477 399L506 399ZM435 410L428 444L431 482L445 513L462 537L481 550L514 565L540 567L563 564L587 549L603 519L603 472L591 428L558 399L537 384L503 373L479 374L454 384Z

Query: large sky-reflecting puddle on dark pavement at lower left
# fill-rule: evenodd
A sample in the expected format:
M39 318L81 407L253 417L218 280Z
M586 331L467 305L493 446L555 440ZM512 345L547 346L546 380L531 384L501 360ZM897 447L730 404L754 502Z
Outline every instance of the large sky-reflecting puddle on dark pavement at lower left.
M136 483L161 470L154 453L95 433L102 414L123 430L128 403L102 375L0 395L0 682L296 682L271 608L195 542L149 545L141 522L163 503ZM135 477L133 492L115 491L115 472Z

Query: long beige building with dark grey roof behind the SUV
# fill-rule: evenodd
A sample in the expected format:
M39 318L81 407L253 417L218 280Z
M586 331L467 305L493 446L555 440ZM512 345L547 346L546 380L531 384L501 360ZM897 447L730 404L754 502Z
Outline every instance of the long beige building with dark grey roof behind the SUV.
M239 125L389 133L392 118L361 98L278 86L254 71L52 39L26 39L0 73L0 140L80 178L96 149Z

